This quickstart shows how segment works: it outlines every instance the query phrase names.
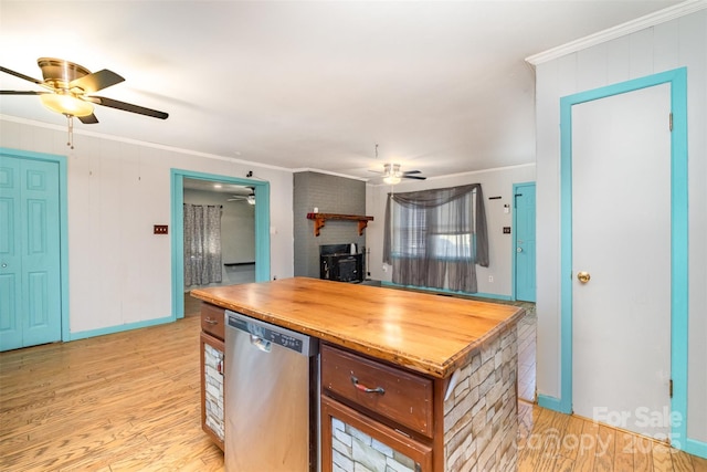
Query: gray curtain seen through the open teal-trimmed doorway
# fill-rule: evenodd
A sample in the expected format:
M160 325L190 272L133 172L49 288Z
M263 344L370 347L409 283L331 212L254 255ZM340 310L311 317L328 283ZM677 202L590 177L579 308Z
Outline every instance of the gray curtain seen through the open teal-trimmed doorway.
M221 279L221 206L184 203L184 286Z

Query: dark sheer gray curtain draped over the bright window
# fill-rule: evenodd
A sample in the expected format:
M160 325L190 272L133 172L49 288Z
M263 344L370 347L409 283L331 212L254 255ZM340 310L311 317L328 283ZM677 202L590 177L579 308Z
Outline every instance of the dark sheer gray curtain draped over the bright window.
M477 292L476 264L488 266L481 183L388 193L383 262L397 284Z

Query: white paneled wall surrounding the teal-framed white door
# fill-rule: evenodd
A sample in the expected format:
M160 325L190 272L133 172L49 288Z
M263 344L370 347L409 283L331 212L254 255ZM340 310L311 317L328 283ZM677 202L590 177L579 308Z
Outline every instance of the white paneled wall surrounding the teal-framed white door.
M560 395L560 97L687 67L688 438L707 442L707 10L537 65L537 386Z

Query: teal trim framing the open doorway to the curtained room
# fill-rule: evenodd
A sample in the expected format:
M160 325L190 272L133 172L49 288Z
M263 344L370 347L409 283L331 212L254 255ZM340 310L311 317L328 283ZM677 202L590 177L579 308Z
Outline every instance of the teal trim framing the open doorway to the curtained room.
M270 182L171 169L172 316L184 316L184 178L253 187L255 192L255 281L270 280Z

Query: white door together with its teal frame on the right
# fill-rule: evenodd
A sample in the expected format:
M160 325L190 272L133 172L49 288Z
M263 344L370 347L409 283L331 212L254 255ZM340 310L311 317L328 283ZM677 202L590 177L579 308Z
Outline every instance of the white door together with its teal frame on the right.
M686 433L686 122L684 69L561 99L557 409L661 439Z

